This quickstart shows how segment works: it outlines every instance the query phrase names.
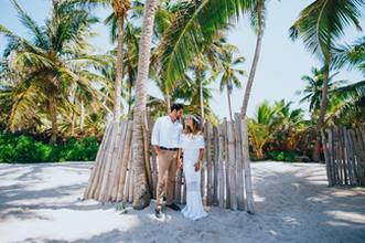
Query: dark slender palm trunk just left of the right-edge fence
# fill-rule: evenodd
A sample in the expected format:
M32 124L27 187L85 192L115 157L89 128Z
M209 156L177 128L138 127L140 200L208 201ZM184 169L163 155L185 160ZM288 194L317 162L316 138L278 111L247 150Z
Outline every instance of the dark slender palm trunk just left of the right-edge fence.
M320 116L315 126L315 145L313 150L313 161L320 161L320 147L321 147L321 129L324 125L324 116L328 109L328 93L329 93L329 77L330 77L330 57L326 59L323 68L323 86L322 86L322 97L321 97L321 108Z

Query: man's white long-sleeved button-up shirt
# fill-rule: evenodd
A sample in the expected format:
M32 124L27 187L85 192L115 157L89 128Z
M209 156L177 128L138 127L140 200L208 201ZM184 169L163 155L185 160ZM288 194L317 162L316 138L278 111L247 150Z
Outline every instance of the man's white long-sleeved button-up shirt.
M159 117L153 126L151 144L159 147L178 148L182 129L179 120L173 123L170 116Z

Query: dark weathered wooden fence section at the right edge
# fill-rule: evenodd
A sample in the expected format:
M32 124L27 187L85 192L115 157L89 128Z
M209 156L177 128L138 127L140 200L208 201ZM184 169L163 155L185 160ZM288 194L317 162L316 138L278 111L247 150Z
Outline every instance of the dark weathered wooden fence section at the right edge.
M365 186L365 124L322 131L329 186Z

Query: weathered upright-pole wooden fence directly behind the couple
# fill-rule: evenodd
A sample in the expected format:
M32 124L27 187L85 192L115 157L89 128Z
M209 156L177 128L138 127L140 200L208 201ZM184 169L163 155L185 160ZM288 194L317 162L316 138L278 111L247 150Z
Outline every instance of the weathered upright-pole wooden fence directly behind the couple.
M158 182L158 158L150 145L152 124L143 129L147 178L154 198ZM111 122L105 131L96 162L85 191L85 199L132 202L132 123ZM204 127L205 158L202 168L202 197L205 205L217 205L254 213L253 186L246 120L235 114L234 122ZM183 172L176 175L174 199L185 203Z

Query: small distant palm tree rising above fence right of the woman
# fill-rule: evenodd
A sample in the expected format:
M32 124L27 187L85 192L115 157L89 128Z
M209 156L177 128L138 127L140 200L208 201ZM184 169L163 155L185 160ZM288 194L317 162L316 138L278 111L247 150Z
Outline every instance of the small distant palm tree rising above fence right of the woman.
M230 51L224 53L222 55L222 77L221 77L221 85L219 89L221 92L226 88L227 92L227 101L228 101L228 109L229 109L229 118L233 120L232 115L232 105L230 105L230 94L233 89L240 88L241 84L239 81L238 75L245 75L245 71L240 68L235 68L235 65L241 64L245 62L245 57L239 56L234 59L233 53Z

